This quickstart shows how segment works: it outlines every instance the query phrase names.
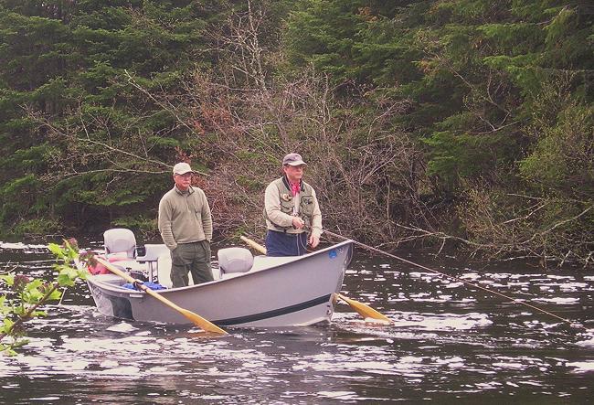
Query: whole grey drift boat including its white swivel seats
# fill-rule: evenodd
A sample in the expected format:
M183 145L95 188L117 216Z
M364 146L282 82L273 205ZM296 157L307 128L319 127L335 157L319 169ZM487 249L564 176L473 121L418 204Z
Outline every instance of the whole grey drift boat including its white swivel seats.
M110 235L124 238L112 240ZM132 235L132 239L126 239L126 235ZM157 281L168 282L168 269L164 267L170 263L169 250L164 245L147 244L144 255L134 258L135 240L130 230L110 229L105 240L108 258L124 256L112 261L113 265L132 273L145 272L150 281L156 271L161 279ZM123 248L117 249L118 245ZM217 254L215 281L155 292L216 325L313 325L329 322L334 313L334 293L341 289L353 255L353 242L345 240L295 257L253 257L243 248L221 249ZM185 316L154 297L123 287L125 281L115 274L89 275L87 282L101 314L137 321L189 323Z

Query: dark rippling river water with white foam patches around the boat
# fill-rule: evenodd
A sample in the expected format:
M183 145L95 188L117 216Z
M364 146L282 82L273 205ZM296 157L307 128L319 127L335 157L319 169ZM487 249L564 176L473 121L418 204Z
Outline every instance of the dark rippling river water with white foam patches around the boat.
M213 250L217 250L216 247ZM403 253L406 254L406 253ZM388 257L355 250L332 325L228 329L122 322L96 311L86 284L30 324L0 356L0 403L586 403L594 398L594 273L514 262L410 261L525 300L524 305ZM52 278L41 245L0 243L0 269Z

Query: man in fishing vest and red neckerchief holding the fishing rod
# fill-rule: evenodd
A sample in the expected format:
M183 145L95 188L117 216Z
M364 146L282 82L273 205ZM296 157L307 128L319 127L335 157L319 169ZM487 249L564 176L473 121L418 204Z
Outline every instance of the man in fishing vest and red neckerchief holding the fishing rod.
M284 156L283 176L266 187L264 218L268 229L268 256L300 256L307 252L308 242L312 249L320 243L322 213L315 190L302 180L306 165L299 154Z

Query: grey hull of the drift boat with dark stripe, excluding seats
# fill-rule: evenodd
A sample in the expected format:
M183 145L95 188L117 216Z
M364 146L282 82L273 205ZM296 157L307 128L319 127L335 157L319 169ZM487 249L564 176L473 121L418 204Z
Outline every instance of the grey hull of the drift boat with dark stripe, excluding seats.
M160 290L164 298L220 326L272 327L329 322L353 255L351 240L296 258L258 257L249 272L214 282ZM113 274L90 276L101 314L135 321L189 324L150 295L122 288Z

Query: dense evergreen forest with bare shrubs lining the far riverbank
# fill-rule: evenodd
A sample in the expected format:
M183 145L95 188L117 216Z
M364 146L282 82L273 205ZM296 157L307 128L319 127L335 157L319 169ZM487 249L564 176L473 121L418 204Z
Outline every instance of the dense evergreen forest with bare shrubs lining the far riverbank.
M261 238L299 152L324 226L594 261L589 0L0 0L5 237L154 238L171 166Z

